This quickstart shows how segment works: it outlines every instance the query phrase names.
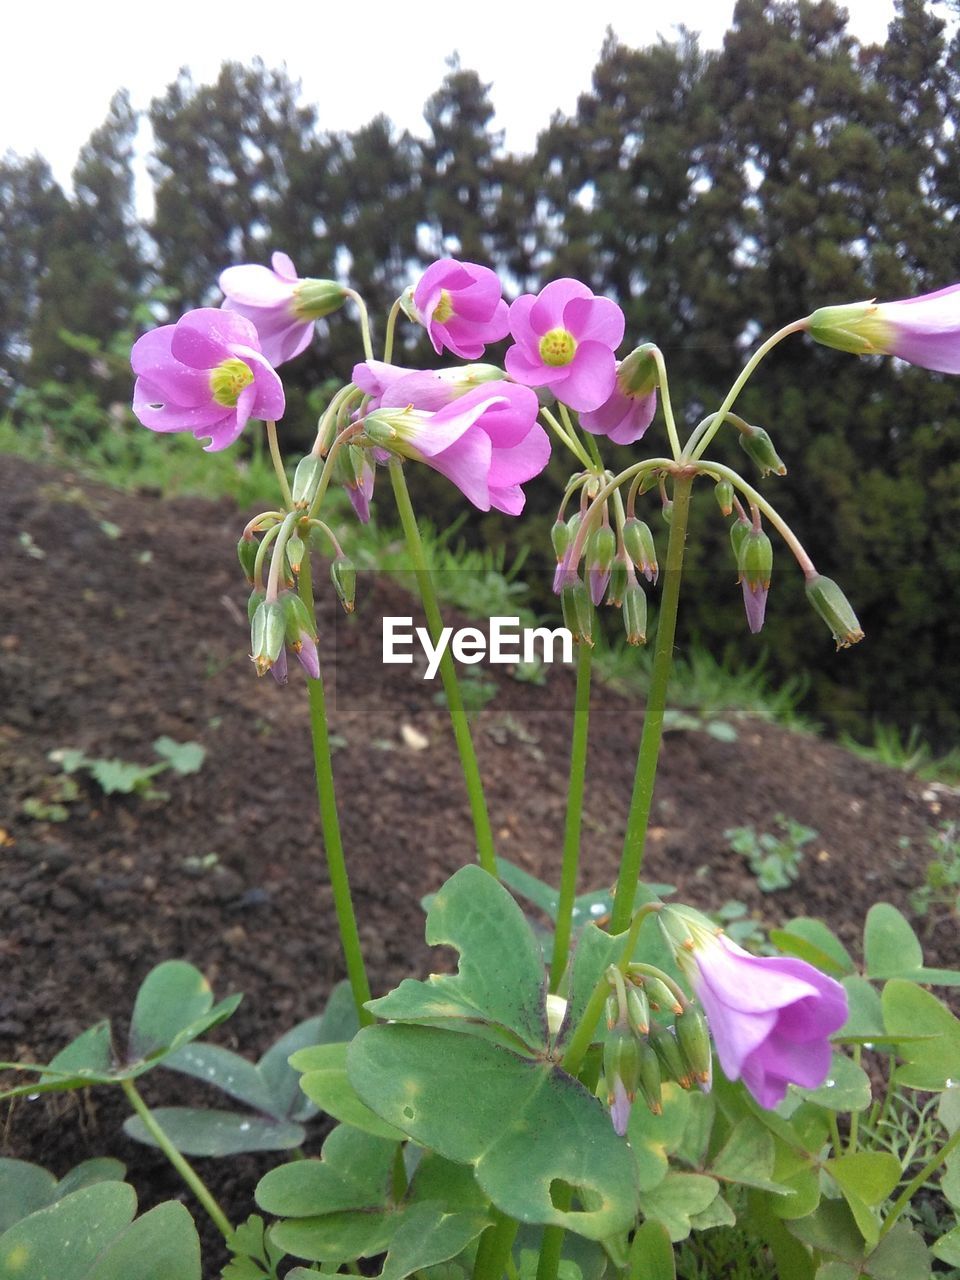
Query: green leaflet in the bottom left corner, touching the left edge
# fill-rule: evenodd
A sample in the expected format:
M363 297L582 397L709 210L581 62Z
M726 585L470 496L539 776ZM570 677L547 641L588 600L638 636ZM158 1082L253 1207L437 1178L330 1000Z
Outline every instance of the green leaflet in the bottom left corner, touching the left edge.
M137 1211L127 1183L96 1183L14 1222L0 1235L0 1276L86 1280L104 1245Z

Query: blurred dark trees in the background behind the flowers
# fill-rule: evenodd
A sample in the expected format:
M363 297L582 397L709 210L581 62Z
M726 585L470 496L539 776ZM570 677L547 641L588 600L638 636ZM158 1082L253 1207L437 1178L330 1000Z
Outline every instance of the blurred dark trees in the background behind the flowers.
M739 0L718 51L682 31L646 49L611 35L593 88L545 125L532 155L504 150L490 86L456 59L420 137L384 116L324 131L285 72L260 63L224 64L212 84L182 70L146 113L146 200L134 191L141 122L120 90L70 189L41 156L0 161L0 449L113 483L183 489L197 476L210 492L211 458L195 442L132 425L129 344L219 305L224 266L266 262L276 248L301 275L349 279L380 337L393 298L438 256L494 266L508 297L576 275L623 307L630 343L663 348L692 425L759 335L820 305L960 280L957 0L951 8L947 22L942 0L899 0L877 46L851 37L831 0ZM430 362L420 338L404 334L402 362ZM340 315L284 366L291 449L312 439L332 380L347 379L358 353ZM799 673L803 713L837 733L870 740L882 723L901 742L919 732L950 749L960 730L957 383L792 339L739 408L773 435L788 475L765 492L840 580L868 640L832 655L785 552L764 631L749 636L709 492L691 538L686 634L731 672L762 660L774 685ZM241 500L250 494L236 461L253 447L218 460L218 483ZM745 461L723 438L713 452ZM524 577L541 611L554 608L548 529L567 470L557 457L527 486L531 518L477 513L457 526L462 547L493 548L504 564L532 541ZM461 497L415 471L420 509L443 531L462 516ZM379 502L388 507L383 492ZM657 527L655 509L648 518Z

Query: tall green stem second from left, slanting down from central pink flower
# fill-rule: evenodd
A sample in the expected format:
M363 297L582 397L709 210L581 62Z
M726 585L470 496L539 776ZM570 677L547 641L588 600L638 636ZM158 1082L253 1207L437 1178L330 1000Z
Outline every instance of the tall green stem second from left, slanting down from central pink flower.
M424 603L424 612L426 613L426 625L430 631L430 637L434 645L436 645L440 632L443 631L443 618L440 617L440 608L436 603L434 585L430 581L430 570L426 563L426 556L424 554L424 544L420 540L420 530L417 529L413 508L410 503L410 492L407 489L407 481L403 476L403 466L397 457L390 458L390 481L397 499L397 512L399 513L403 534L407 539L407 550L410 552L410 558L413 561L413 571L416 573L417 586L420 588L420 599ZM484 785L480 778L480 767L476 763L474 740L470 736L470 724L467 722L467 714L463 710L463 699L460 694L457 672L453 666L453 658L451 657L449 649L444 649L443 657L440 658L440 678L443 680L443 691L447 695L447 707L451 713L451 723L453 724L453 736L457 740L460 763L463 769L463 781L466 782L467 796L470 797L470 813L474 818L474 831L476 832L477 856L484 870L489 872L493 877L497 877L497 855L494 852L490 818L486 813Z

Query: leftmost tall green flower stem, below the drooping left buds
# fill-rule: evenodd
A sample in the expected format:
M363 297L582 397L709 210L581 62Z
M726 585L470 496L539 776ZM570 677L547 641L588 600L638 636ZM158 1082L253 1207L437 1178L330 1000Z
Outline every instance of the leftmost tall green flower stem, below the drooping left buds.
M312 618L314 582L310 553L301 562L297 585L300 598L303 600ZM310 696L310 732L314 739L316 799L320 809L320 827L324 833L326 869L330 876L333 904L337 913L337 924L340 931L340 947L343 948L343 959L347 965L347 978L353 992L353 1004L357 1006L357 1019L361 1027L369 1027L375 1019L364 1007L366 1001L370 1000L370 983L364 965L364 954L360 948L357 918L353 913L353 899L349 892L349 878L347 876L347 860L343 856L340 820L337 814L337 790L333 781L333 758L330 755L330 739L326 730L326 699L324 695L323 676L319 680L311 680L307 676L307 694Z

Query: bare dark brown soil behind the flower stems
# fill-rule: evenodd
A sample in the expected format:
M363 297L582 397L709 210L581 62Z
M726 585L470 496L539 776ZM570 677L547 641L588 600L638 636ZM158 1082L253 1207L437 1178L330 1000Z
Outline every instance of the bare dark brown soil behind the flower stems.
M343 965L300 675L280 689L257 681L247 659L234 554L246 517L227 502L118 494L12 458L0 460L0 1059L46 1061L102 1016L123 1028L145 974L174 956L202 969L218 996L244 992L215 1034L256 1057L323 1009ZM333 593L320 594L343 837L383 993L431 966L420 900L472 860L472 828L449 722L422 663L381 662L380 620L416 620L411 598L367 579L357 614L344 620ZM554 666L536 686L498 667L489 678L498 692L474 733L498 847L556 882L573 675ZM616 876L640 722L636 699L595 686L581 888ZM151 764L161 735L206 749L197 773L156 780L169 799L105 796L76 774L65 820L24 813L31 799L56 803L51 751ZM781 813L818 835L796 884L764 895L724 831L771 831ZM759 721L737 721L735 741L673 731L644 874L701 908L736 899L765 924L823 916L856 952L874 901L909 914L931 831L957 818L957 792L815 737ZM956 916L931 911L914 923L928 963L960 965ZM179 1101L182 1078L152 1073L143 1092ZM0 1153L58 1175L114 1155L142 1206L180 1196L202 1224L163 1158L124 1137L125 1114L109 1089L20 1102L0 1114ZM198 1165L242 1217L274 1162ZM221 1261L214 1238L209 1265Z

